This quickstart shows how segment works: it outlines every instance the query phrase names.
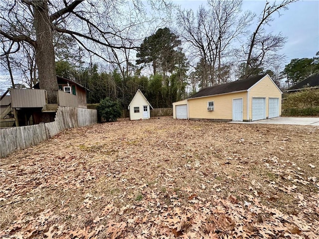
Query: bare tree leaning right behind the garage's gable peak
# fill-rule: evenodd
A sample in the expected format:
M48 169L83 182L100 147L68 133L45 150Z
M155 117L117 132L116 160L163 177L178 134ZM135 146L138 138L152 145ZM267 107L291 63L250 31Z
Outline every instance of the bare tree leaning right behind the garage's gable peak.
M242 78L247 78L254 74L255 68L261 68L265 62L272 63L272 60L280 60L283 55L278 51L284 46L287 38L279 34L266 33L265 25L269 25L274 20L274 13L279 13L280 9L287 10L288 5L297 0L283 0L279 4L276 1L270 3L266 1L263 12L258 18L258 24L250 37L248 51L244 52L246 57L245 70Z

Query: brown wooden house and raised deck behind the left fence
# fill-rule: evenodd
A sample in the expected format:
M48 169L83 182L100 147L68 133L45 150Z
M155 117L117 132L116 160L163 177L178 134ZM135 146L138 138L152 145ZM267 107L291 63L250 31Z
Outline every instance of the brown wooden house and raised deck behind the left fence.
M0 99L0 126L12 127L40 123L44 114L53 121L59 106L87 108L87 89L77 82L57 76L57 104L48 104L46 91L39 89L9 89ZM9 93L10 95L7 95Z

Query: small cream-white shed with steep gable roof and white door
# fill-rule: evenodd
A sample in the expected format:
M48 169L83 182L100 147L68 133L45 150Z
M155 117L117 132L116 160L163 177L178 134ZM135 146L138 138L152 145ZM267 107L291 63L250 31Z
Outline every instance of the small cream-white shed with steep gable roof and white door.
M135 96L133 97L133 100L131 101L129 105L130 119L131 120L150 119L151 108L153 109L151 104L148 102L146 97L143 95L143 93L139 89L136 92Z

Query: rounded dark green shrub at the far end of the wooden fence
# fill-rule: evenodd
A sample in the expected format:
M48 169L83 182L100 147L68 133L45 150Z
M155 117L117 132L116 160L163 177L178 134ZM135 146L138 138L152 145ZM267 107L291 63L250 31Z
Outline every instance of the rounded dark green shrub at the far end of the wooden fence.
M96 107L98 111L99 121L116 121L122 115L122 107L118 101L113 101L110 98L105 98L100 101Z

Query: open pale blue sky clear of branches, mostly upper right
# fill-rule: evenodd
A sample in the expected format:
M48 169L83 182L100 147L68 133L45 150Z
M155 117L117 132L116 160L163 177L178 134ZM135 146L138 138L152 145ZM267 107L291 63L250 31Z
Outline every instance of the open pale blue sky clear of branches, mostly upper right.
M257 15L262 12L265 0L243 0L243 10ZM271 1L272 2L272 1ZM280 1L277 1L280 2ZM182 8L197 9L206 0L174 0ZM288 37L281 54L286 55L285 65L294 58L313 58L319 51L319 0L299 0L289 5L288 10L274 14L274 21L266 29L275 34L282 32ZM254 30L256 24L251 25Z

